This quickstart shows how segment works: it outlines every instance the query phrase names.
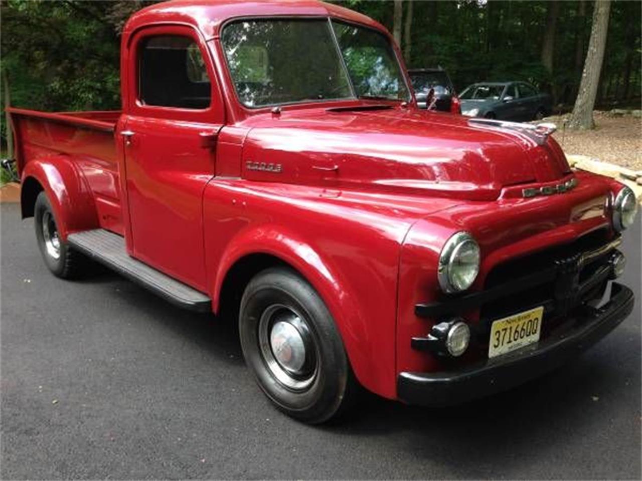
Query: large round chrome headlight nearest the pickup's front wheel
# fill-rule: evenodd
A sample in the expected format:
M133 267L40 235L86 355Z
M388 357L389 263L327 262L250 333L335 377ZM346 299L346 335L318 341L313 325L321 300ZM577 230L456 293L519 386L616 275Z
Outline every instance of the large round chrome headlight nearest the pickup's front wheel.
M437 278L444 292L465 291L480 271L480 247L467 232L456 232L439 255Z

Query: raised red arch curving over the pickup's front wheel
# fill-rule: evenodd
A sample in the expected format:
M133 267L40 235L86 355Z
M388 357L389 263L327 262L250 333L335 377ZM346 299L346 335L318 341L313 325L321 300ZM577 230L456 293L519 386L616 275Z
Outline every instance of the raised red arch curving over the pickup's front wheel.
M279 258L298 271L316 289L334 318L357 379L371 391L381 392L372 362L376 353L371 352L367 342L370 337L369 326L364 322L365 316L356 302L356 296L339 269L332 266L299 235L283 226L256 226L239 232L227 243L214 278L214 312L218 312L221 287L227 273L236 262L253 254ZM392 392L381 393L394 396Z

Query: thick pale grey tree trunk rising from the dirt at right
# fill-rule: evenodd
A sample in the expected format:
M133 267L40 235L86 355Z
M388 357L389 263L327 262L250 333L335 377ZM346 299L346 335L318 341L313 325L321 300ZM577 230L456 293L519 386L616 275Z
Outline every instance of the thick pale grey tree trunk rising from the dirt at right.
M569 128L591 129L595 126L593 121L593 106L600 81L602 62L604 60L604 47L606 34L609 29L609 10L611 0L595 0L593 10L593 24L591 26L591 39L586 53L580 92L577 94L573 114L568 123Z

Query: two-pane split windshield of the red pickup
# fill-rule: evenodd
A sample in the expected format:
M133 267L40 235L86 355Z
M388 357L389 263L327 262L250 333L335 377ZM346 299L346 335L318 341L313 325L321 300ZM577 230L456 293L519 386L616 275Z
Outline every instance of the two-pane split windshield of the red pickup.
M408 99L390 42L367 28L327 19L246 20L229 24L221 43L239 101L248 107Z

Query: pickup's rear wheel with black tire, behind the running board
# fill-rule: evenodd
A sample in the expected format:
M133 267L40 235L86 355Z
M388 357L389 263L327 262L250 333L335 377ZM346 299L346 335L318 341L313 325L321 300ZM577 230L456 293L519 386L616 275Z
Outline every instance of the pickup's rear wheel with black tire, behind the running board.
M67 242L63 242L62 239L58 237L58 221L56 221L51 203L49 203L49 199L44 191L40 192L36 199L35 206L33 207L33 220L38 248L40 249L42 258L44 258L45 264L49 267L49 271L63 279L79 276L83 271L83 265L87 261L87 258L81 253L71 249ZM49 245L45 239L46 236L48 236Z

